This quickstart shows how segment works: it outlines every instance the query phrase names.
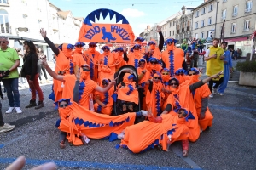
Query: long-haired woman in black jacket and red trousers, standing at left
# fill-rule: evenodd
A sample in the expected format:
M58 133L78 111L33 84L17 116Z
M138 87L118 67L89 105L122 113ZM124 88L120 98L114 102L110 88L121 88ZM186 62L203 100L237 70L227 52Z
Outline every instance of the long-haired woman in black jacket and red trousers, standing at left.
M24 64L22 66L22 71L26 75L26 80L29 84L29 88L31 89L32 98L30 100L29 105L26 105L26 108L30 108L36 106L35 109L40 109L44 107L44 94L42 89L39 86L38 82L38 54L37 49L32 41L23 42L24 48L26 50L26 54L24 57ZM36 98L38 92L38 105L36 103Z

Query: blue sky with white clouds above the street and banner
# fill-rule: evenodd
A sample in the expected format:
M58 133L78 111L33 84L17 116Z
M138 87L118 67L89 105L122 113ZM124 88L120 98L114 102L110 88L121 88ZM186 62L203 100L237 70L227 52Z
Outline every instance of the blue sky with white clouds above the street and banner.
M147 25L153 26L181 10L182 6L196 7L203 0L49 0L63 11L71 10L74 17L86 17L98 8L109 8L120 14L131 24L136 36L144 31ZM115 21L115 20L114 20ZM113 23L109 17L96 23Z

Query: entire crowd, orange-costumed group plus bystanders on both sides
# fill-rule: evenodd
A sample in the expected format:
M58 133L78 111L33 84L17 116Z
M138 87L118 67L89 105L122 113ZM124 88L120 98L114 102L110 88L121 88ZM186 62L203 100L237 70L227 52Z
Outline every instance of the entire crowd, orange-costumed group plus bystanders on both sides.
M4 46L8 44L7 38L0 37L0 55L6 56L8 51L13 54L12 59L6 56L11 61L9 65L0 65L9 112L14 108L17 113L21 111L20 94L15 87L19 74L26 77L31 88L32 98L26 108L44 107L38 82L38 69L44 67L54 79L49 98L60 114L56 126L61 131L61 148L65 148L66 140L81 145L88 144L90 139L121 139L119 147L139 153L154 146L168 150L173 142L182 141L183 156L188 156L189 141L195 142L202 131L212 126L208 97L213 97L217 90L224 95L231 68L230 53L226 52L227 42L218 47L219 41L214 39L205 54L208 77L200 80L201 71L188 68L183 49L175 46L177 40L164 41L160 26L156 31L159 44L151 40L148 47L143 47L144 39L137 37L130 50L118 47L110 51L105 45L101 54L96 51L96 42L90 42L87 50L83 48L84 42L63 43L57 48L41 29L44 41L55 54L55 71L34 44L25 41L26 54L20 73L16 71L20 65L18 54ZM42 58L41 66L38 57ZM3 122L1 113L0 132L13 128Z

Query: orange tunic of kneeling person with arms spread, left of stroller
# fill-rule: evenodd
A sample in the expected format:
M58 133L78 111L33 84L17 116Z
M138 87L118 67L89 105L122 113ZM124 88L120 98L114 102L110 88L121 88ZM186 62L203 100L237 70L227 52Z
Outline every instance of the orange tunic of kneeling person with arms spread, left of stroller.
M74 75L67 75L64 77L64 81L65 88L63 90L62 98L70 99L71 96L73 96L73 88L76 82L76 77ZM92 94L92 92L95 90L97 86L97 83L93 80L80 80L79 105L82 105L84 106L84 108L89 109L90 94Z

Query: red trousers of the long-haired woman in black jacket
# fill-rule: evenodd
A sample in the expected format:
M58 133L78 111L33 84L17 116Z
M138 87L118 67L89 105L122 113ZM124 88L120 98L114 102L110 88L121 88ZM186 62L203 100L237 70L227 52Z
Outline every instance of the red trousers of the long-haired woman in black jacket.
M36 100L37 99L37 94L36 91L38 91L38 97L39 97L39 101L44 101L44 94L42 92L42 89L39 86L39 82L38 82L38 74L35 75L34 80L32 83L28 83L29 84L29 88L31 89L31 100ZM26 80L27 82L29 82L30 80L30 75L26 75Z

